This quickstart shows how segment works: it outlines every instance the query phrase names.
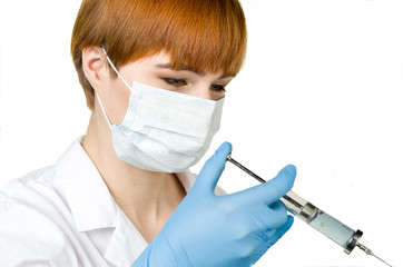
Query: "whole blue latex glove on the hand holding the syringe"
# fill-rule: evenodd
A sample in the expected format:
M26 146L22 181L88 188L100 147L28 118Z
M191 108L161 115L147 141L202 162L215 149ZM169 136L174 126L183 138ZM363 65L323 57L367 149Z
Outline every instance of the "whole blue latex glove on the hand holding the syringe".
M194 187L132 266L250 266L291 228L293 217L277 200L293 187L295 167L244 191L215 196L230 151L230 144L224 142L207 160Z

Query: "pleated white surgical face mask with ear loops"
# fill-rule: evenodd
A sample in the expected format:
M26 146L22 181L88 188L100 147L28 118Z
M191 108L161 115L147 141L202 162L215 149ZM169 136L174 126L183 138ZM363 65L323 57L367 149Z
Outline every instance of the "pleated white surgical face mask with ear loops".
M97 95L117 156L137 168L161 172L184 171L198 162L219 128L224 98L213 101L135 81L130 87L106 57L130 89L121 125L110 123Z

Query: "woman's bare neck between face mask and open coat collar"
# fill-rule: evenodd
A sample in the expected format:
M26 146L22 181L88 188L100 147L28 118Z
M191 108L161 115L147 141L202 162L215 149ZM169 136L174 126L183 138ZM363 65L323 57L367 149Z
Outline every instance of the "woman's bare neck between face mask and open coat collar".
M116 204L146 240L153 239L186 191L175 174L147 171L120 160L112 147L109 126L104 116L97 113L92 112L81 145Z

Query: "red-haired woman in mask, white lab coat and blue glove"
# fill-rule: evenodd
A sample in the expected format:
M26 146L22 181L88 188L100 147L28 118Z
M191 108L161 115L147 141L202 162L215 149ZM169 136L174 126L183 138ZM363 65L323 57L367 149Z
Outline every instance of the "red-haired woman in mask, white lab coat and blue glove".
M92 115L0 195L1 266L250 266L292 225L295 168L225 195L218 130L246 26L237 0L83 0L71 55Z

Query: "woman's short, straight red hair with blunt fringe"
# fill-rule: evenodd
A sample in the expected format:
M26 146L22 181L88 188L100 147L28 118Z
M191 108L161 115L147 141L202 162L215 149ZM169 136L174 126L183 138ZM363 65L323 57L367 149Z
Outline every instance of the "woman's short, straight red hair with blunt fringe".
M238 0L83 0L71 56L90 109L82 50L91 46L104 47L118 69L165 50L174 69L236 75L246 52L245 16Z

